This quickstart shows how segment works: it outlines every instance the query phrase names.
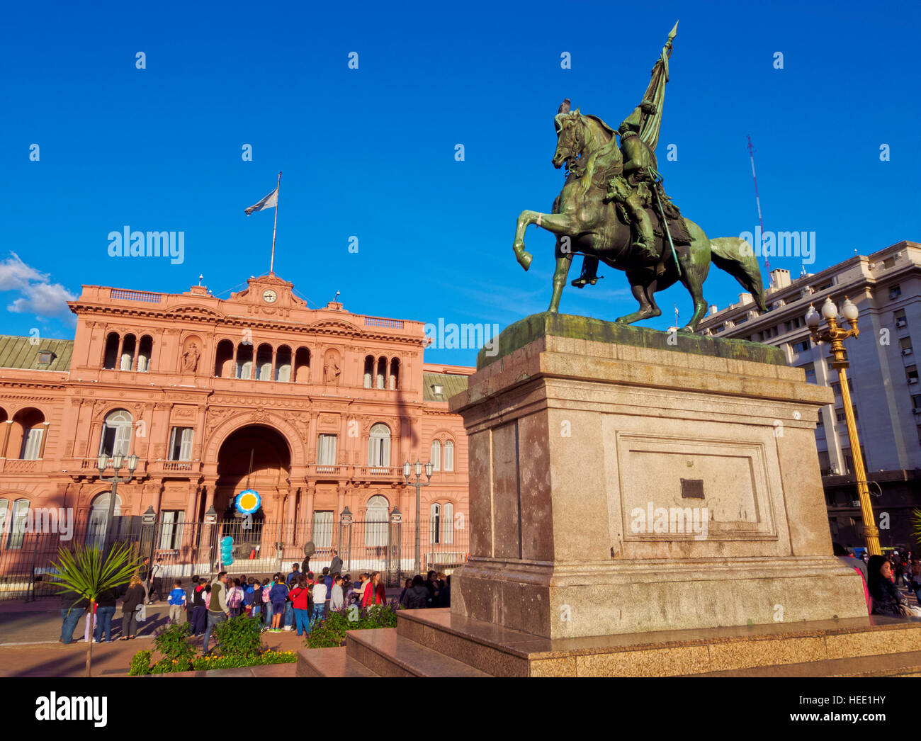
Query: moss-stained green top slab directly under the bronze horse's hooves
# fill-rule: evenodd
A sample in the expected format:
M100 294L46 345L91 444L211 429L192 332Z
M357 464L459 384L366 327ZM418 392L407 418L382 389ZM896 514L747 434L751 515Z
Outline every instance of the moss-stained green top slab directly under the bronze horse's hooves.
M476 368L495 363L499 358L514 353L519 348L541 337L565 337L570 340L589 340L619 345L633 345L675 353L694 353L729 360L749 360L754 363L787 365L780 348L760 342L722 340L688 332L663 332L648 327L617 324L570 314L531 314L510 324L494 340L491 348L483 348L476 358Z

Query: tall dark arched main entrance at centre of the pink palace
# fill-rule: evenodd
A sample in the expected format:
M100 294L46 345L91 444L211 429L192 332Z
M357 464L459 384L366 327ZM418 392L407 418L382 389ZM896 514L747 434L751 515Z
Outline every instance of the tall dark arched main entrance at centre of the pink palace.
M267 547L262 541L271 540L271 533L263 537L262 530L266 521L277 523L285 517L281 508L290 471L290 448L273 428L251 424L230 434L217 454L214 506L221 536L232 537L240 551ZM237 494L246 489L262 497L262 508L250 521L234 508Z

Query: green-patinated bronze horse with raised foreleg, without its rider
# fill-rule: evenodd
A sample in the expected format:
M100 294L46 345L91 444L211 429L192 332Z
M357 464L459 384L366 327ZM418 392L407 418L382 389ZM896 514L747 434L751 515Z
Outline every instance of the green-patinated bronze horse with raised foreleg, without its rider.
M633 242L631 227L617 213L616 203L607 197L608 179L619 175L623 169L623 157L612 128L597 116L583 115L578 110L569 112L568 105L561 107L555 124L557 142L553 164L554 168L565 164L565 185L554 202L552 214L521 212L512 247L521 267L528 270L531 255L524 249L524 233L528 226L536 224L556 235L556 270L549 312L556 313L559 309L560 295L575 254L596 257L626 272L639 309L616 319L620 324L658 317L662 312L656 306L656 292L681 281L694 299L694 315L681 330L695 331L706 311L703 285L711 261L739 281L752 294L758 308L767 310L758 261L752 247L740 237L710 239L700 226L684 219L692 238L690 245L675 245L680 275L661 228L659 231L663 234L657 235L655 247L660 254L666 250L665 272L657 274L655 265L637 261L630 247Z

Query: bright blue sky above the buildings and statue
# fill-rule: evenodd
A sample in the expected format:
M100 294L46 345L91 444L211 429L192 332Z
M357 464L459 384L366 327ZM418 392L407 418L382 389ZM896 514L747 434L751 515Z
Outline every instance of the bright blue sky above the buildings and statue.
M764 228L814 231L810 272L921 239L917 4L313 5L6 6L0 331L71 337L80 284L179 293L204 273L226 297L268 272L273 212L243 209L279 170L275 272L313 304L338 290L358 313L500 328L542 311L554 237L530 227L527 273L511 244L563 185L553 115L571 98L616 128L678 18L658 154L683 214L710 237L753 230L751 134ZM184 231L183 263L111 258L123 226ZM560 310L633 311L623 273L601 272ZM740 290L714 269L705 297ZM676 303L686 320L677 286L648 326Z

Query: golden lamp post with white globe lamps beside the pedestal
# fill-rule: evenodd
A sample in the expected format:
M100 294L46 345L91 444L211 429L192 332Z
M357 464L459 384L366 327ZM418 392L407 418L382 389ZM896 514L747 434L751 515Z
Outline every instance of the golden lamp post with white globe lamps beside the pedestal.
M854 475L857 477L857 494L860 497L860 514L864 521L864 536L867 538L867 550L871 556L880 556L880 529L876 527L876 518L873 516L873 505L870 504L869 487L867 486L867 471L864 469L863 455L860 452L860 440L857 439L857 423L854 420L854 407L851 405L851 391L847 388L847 366L845 360L845 340L848 337L858 337L857 307L845 296L845 304L841 307L841 314L847 320L851 329L845 330L838 326L838 307L834 306L832 299L826 298L822 304L822 315L810 304L806 312L806 325L810 328L812 339L815 342L831 342L832 367L837 368L838 380L841 383L841 399L845 404L845 421L847 423L847 438L851 444L851 457L854 458ZM820 330L819 323L825 318L826 329Z

